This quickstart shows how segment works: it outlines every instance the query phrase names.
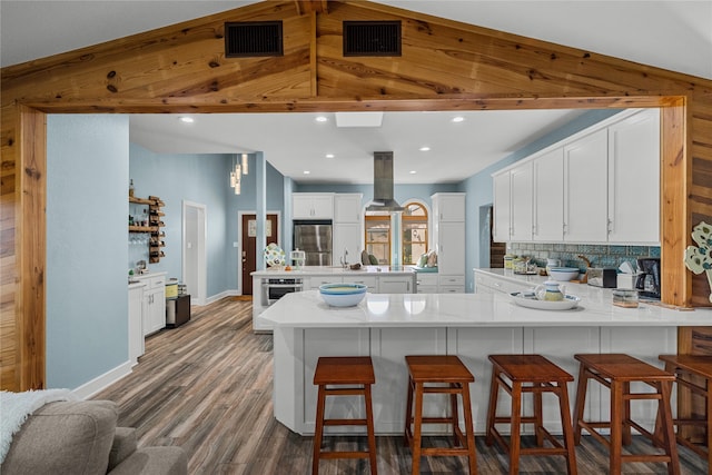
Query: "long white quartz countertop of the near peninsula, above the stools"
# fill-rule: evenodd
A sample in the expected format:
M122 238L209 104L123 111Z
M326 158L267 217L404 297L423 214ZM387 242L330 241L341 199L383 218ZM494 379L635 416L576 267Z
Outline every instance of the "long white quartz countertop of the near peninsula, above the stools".
M355 307L330 307L317 290L288 294L258 318L296 328L338 327L555 327L710 326L711 309L675 310L641 303L637 308L611 300L571 310L520 307L506 294L366 294Z

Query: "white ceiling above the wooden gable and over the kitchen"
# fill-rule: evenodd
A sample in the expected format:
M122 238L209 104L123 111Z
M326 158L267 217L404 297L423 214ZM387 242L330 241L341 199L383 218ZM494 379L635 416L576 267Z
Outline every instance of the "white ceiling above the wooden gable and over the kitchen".
M239 8L254 1L0 1L0 63L24 62ZM712 0L392 0L394 7L712 79ZM156 152L264 151L296 181L370 182L370 154L395 152L396 182L459 181L576 117L574 111L388 112L380 128L333 115L132 116L131 141ZM429 152L418 151L429 146ZM326 159L334 154L334 159ZM309 170L309 175L304 175ZM417 174L411 175L411 170Z

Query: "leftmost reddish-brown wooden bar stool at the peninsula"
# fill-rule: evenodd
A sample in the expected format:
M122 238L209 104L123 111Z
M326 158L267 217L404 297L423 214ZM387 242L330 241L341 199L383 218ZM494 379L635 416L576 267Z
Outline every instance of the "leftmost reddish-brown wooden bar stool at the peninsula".
M319 387L316 405L316 429L314 432L314 457L312 474L319 473L322 458L368 458L370 473L377 474L376 434L374 432L374 414L370 398L370 385L376 383L370 356L320 357L314 373L314 384ZM327 387L342 386L342 387ZM343 387L347 386L347 387ZM356 387L354 387L356 386ZM366 406L365 419L326 419L324 405L326 396L364 396ZM322 451L324 426L365 425L368 436L368 452Z

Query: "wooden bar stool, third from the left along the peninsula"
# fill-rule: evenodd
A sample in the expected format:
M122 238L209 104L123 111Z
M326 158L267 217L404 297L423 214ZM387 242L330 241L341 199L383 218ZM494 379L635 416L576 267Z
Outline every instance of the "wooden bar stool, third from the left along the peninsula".
M573 382L574 377L541 355L490 355L490 360L492 362L492 386L485 443L492 445L494 441L497 441L510 454L510 474L518 473L520 455L563 455L566 457L568 473L575 475L576 452L566 388L566 384ZM512 413L508 417L497 417L496 415L500 387L512 396ZM523 393L534 394L533 416L522 416ZM554 438L543 425L543 393L552 393L558 397L564 445ZM511 425L510 444L502 437L495 424ZM536 447L521 447L522 424L534 424ZM551 447L544 446L544 438L551 443Z

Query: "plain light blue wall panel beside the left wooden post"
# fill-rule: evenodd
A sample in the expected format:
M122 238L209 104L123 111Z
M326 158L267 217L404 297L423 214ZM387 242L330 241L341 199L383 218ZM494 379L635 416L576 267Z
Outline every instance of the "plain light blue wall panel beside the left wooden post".
M129 119L47 117L47 387L128 362Z

